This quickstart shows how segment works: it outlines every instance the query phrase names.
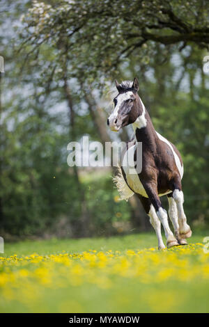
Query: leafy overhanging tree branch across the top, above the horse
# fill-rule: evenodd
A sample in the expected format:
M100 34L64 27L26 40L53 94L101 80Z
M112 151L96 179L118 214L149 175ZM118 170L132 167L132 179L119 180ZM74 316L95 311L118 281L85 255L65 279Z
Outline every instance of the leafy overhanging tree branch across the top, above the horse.
M38 51L47 43L63 55L68 40L72 76L111 75L125 58L144 61L157 44L208 48L208 1L35 1L24 17L24 43Z

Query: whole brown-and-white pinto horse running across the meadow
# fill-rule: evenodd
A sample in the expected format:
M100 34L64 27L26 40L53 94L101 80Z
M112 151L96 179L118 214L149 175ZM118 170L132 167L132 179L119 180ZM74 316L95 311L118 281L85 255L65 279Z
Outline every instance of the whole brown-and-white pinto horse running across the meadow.
M109 115L107 125L111 131L119 131L130 124L134 129L134 139L127 143L121 155L118 175L114 178L121 193L121 200L128 200L134 193L137 194L157 234L159 250L165 248L161 223L167 239L167 248L185 245L186 239L192 236L192 230L187 224L183 208L183 159L180 152L167 138L155 131L150 115L138 95L137 77L133 81L115 83L118 95L114 97L114 111ZM130 166L124 158L128 154L134 163L137 162L138 143L142 143L142 168L139 172L132 170L130 173ZM174 234L169 227L167 211L160 200L164 195L167 195L169 201L169 218Z

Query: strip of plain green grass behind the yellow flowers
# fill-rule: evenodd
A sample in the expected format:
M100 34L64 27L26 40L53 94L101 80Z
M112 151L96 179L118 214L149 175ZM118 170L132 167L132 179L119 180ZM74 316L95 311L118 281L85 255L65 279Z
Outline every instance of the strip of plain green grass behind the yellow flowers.
M208 233L195 234L189 239L189 243L202 242L203 237L209 235ZM164 238L164 244L166 244ZM129 248L144 249L157 246L157 237L155 232L131 234L121 237L99 237L99 238L85 238L85 239L49 239L40 241L20 241L18 243L6 243L4 245L3 257L13 254L30 255L31 253L38 253L39 255L56 254L61 251L68 251L69 253L82 253L86 250L119 250L125 251Z

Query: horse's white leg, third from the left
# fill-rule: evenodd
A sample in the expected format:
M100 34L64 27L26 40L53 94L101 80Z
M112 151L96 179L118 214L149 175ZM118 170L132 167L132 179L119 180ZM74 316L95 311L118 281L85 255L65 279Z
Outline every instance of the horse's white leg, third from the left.
M178 209L176 206L176 201L173 199L173 194L168 194L168 200L169 200L169 218L171 219L171 223L173 224L174 234L178 241L178 244L180 245L186 245L187 241L185 239L182 239L180 237L179 232L179 224L178 224Z

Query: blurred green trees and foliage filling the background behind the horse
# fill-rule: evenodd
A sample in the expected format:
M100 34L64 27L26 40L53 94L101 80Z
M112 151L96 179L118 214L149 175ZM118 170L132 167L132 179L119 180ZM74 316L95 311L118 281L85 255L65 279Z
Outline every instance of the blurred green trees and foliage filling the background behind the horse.
M75 238L152 229L137 198L118 201L114 168L67 164L68 143L82 136L102 144L130 139L131 127L115 135L106 122L114 79L134 77L155 129L183 156L187 220L206 228L206 1L0 3L0 235Z

